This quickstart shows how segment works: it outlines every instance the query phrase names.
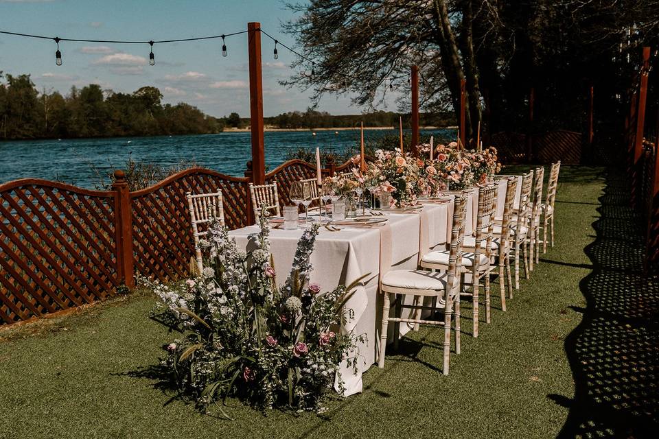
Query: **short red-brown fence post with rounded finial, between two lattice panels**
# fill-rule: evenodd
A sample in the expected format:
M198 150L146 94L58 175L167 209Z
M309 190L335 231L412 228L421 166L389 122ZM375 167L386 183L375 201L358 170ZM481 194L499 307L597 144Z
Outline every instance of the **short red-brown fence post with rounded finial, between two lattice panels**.
M135 287L132 254L132 209L130 207L130 190L124 171L115 171L115 256L117 257L117 276L119 283L126 287Z

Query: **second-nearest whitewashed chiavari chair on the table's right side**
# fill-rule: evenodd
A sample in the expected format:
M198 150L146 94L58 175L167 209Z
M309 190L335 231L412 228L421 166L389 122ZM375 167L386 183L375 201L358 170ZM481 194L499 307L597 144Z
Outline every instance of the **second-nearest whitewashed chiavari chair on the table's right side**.
M472 297L472 318L474 320L474 337L478 337L478 308L479 293L481 289L481 278L484 279L485 288L485 320L490 320L489 307L489 273L492 271L492 260L494 259L494 250L492 249L492 230L494 228L494 214L496 211L496 192L497 185L488 185L478 189L478 215L476 219L475 246L473 251L463 252L462 254L462 275L463 292L461 295ZM465 241L466 241L465 237ZM464 243L463 243L464 245ZM466 250L465 246L463 249ZM449 250L436 250L428 252L421 257L421 267L432 270L448 271L450 262ZM470 282L467 282L467 275L470 275ZM472 292L464 291L467 283L472 286Z

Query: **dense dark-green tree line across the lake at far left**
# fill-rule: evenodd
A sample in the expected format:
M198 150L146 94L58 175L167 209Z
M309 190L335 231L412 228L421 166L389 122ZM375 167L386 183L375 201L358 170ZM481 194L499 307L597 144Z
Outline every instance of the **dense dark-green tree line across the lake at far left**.
M134 93L97 84L39 93L30 75L0 72L0 139L150 136L221 132L224 121L189 104L162 104L158 88Z

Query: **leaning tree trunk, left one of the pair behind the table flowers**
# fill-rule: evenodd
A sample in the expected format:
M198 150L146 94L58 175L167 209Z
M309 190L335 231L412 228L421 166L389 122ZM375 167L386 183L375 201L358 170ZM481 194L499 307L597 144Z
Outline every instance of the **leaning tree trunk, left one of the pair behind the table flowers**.
M458 53L458 45L456 44L455 34L451 28L451 22L448 17L448 8L446 7L446 1L444 0L433 0L432 1L432 13L435 16L435 21L439 27L439 32L441 33L441 38L437 43L439 44L440 54L441 54L441 67L446 76L446 81L448 83L448 88L451 93L451 100L453 101L453 110L456 115L456 120L460 120L460 82L465 78L465 74L462 70L460 64L460 55ZM465 112L467 115L467 121L465 125L467 128L467 135L470 134L468 127L470 126L470 112L469 112L469 100L465 102Z

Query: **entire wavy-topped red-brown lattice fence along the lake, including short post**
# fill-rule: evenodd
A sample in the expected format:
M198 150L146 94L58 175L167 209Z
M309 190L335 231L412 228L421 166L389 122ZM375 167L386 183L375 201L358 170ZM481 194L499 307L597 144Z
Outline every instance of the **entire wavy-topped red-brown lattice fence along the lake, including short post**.
M349 169L330 165L323 175ZM316 175L300 160L266 174L288 203L291 182ZM248 177L209 169L178 172L128 191L122 171L111 191L47 180L0 185L0 324L12 324L114 296L135 274L172 281L187 276L193 254L185 193L222 191L231 229L251 224Z

